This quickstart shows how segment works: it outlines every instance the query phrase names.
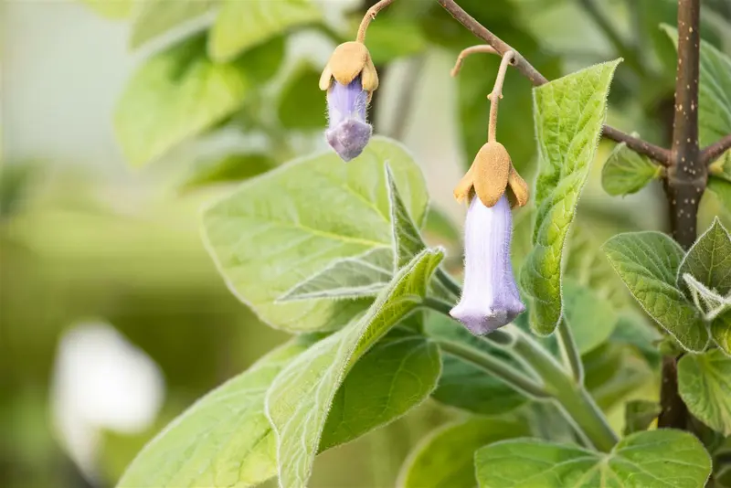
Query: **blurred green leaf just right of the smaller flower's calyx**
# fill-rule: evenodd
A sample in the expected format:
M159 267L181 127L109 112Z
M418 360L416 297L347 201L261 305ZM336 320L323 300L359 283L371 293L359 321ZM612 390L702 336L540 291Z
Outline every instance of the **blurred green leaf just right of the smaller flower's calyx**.
M368 27L367 45L373 62L380 65L418 54L427 48L428 42L413 19L379 16Z

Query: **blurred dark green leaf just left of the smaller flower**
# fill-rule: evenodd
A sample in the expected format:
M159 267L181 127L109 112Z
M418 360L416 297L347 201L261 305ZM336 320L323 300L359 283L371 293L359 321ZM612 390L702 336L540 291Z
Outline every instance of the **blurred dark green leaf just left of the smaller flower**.
M325 92L320 90L320 73L309 63L295 69L281 90L277 107L281 125L287 129L323 131Z

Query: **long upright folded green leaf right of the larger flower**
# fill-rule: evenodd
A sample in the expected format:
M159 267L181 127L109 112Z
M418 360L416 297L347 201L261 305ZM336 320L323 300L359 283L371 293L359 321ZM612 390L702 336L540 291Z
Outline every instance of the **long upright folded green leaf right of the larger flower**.
M530 297L531 327L551 334L561 320L561 261L578 197L607 114L609 83L619 60L578 71L534 90L541 166L535 184L534 249L521 283Z

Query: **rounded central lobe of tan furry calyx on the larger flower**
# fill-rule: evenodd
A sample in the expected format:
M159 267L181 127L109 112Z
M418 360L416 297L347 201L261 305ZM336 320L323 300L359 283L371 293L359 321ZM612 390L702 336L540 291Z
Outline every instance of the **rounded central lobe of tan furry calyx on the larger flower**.
M505 193L513 164L501 143L485 143L472 163L474 190L485 207L493 207Z

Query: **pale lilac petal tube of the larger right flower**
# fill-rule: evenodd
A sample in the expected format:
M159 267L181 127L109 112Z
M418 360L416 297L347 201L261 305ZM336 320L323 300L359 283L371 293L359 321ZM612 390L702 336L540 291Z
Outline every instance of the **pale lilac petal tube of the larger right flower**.
M472 198L465 225L464 289L450 311L472 334L489 334L525 311L510 261L512 234L506 196L494 207Z

